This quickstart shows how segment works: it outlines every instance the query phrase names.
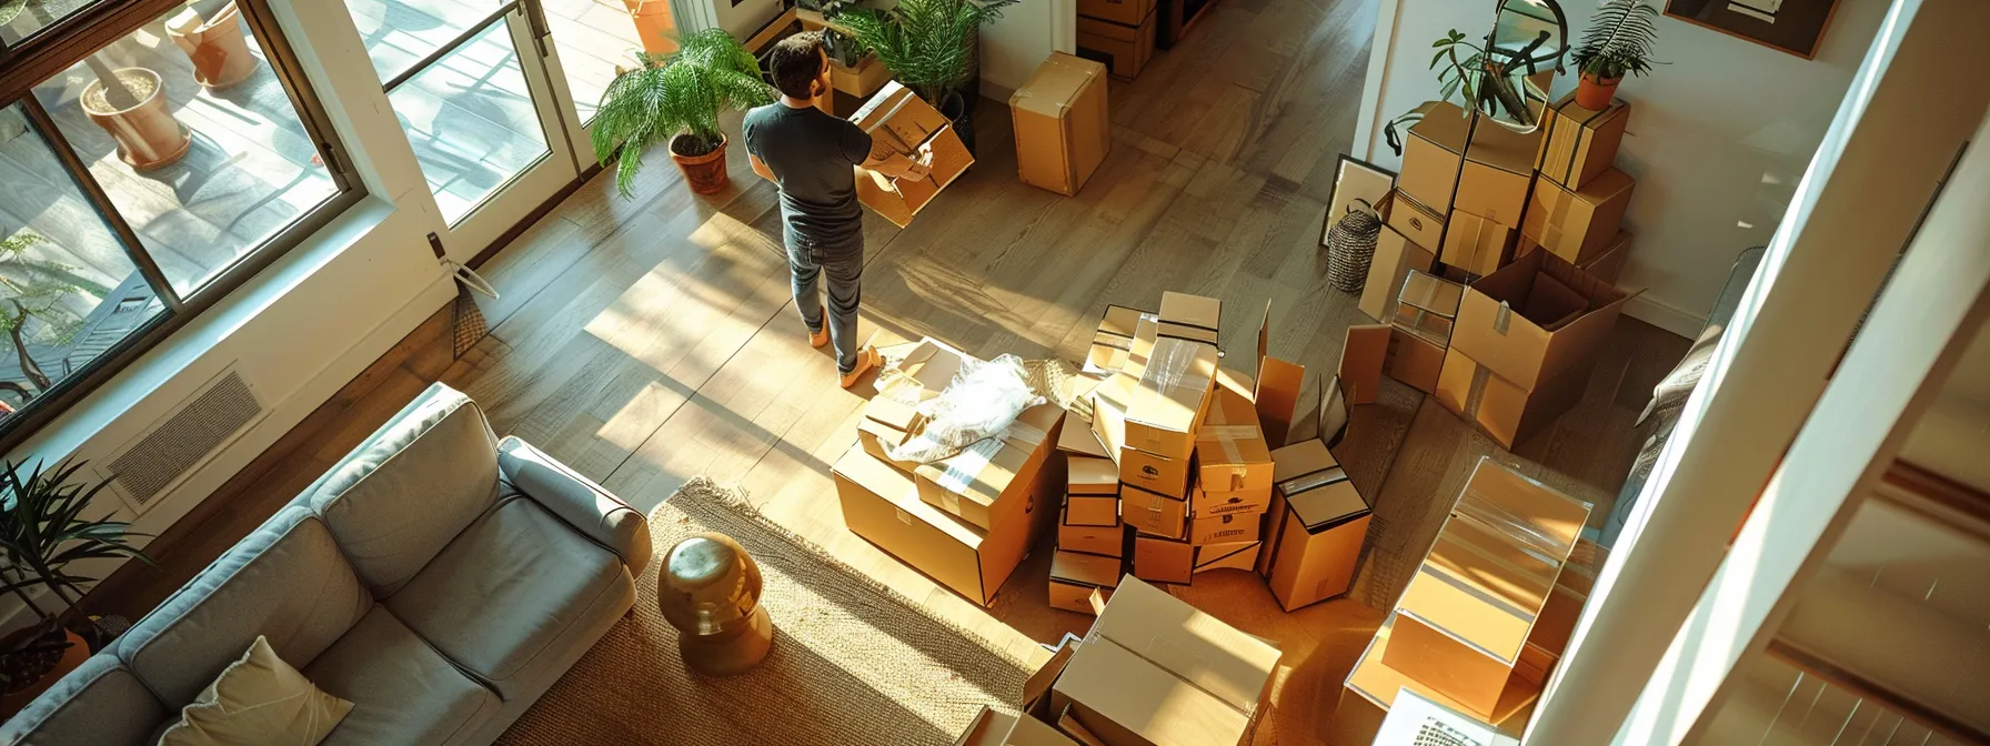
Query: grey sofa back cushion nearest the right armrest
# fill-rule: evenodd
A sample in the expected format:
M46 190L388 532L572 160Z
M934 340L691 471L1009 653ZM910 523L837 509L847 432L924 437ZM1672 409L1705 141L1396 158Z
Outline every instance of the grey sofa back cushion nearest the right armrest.
M374 595L400 591L498 499L498 436L464 394L436 384L298 501L324 515Z

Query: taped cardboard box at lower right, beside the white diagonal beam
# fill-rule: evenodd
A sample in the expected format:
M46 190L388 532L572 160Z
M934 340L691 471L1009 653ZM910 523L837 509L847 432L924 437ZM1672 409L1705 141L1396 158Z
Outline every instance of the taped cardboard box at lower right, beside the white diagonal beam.
M1379 722L1399 690L1520 730L1572 631L1598 551L1590 505L1491 458L1347 674L1339 716ZM1594 565L1590 565L1594 567Z

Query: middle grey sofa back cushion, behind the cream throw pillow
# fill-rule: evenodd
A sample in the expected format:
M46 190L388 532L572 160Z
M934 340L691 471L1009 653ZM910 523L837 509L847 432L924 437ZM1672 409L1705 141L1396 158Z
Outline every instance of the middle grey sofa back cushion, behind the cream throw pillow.
M169 708L193 702L257 635L308 662L372 597L316 515L285 507L145 615L111 651Z

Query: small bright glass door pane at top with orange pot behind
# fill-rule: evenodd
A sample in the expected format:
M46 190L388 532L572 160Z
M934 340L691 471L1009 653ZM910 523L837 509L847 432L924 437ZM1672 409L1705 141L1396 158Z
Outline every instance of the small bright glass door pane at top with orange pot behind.
M675 52L671 4L647 0L631 14L623 0L545 0L545 26L559 48L559 66L567 74L567 92L581 121L593 119L601 92L615 80L615 68L633 66L631 52L643 50L637 24L655 34L655 52Z

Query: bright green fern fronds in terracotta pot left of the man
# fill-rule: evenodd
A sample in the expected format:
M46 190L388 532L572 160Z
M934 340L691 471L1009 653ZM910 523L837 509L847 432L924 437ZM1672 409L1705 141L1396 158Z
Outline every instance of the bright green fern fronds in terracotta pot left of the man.
M720 109L772 103L760 64L732 34L706 28L679 38L679 50L653 56L635 52L637 68L615 76L595 111L595 159L607 165L621 149L615 189L629 197L643 151L671 143L679 155L706 155L724 143Z

